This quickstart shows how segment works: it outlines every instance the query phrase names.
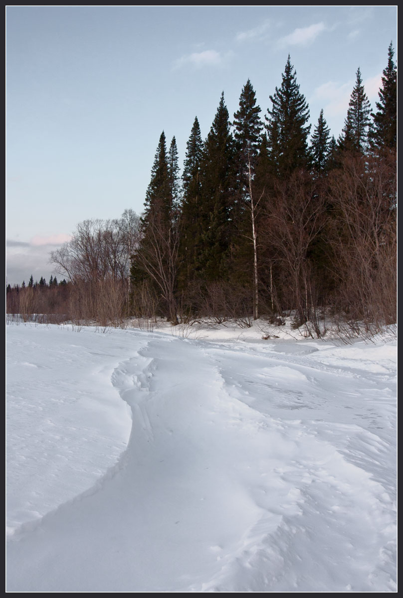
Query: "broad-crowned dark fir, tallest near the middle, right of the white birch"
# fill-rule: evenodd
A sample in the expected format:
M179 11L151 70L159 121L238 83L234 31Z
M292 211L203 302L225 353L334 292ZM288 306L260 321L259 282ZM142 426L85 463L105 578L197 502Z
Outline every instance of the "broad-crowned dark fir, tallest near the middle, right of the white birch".
M290 55L282 75L280 89L269 96L271 110L265 116L272 170L280 178L287 178L293 170L309 165L307 124L310 114L305 97L296 83L296 71Z

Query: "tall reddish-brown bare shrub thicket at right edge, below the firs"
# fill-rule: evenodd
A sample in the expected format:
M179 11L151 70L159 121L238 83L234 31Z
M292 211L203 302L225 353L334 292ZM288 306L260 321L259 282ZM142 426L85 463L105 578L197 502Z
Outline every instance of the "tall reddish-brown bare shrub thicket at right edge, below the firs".
M365 334L396 322L396 161L353 157L331 180L335 307Z

